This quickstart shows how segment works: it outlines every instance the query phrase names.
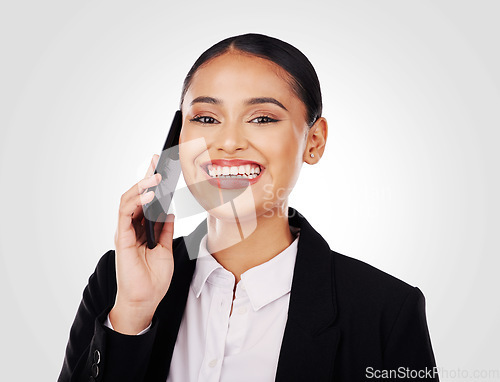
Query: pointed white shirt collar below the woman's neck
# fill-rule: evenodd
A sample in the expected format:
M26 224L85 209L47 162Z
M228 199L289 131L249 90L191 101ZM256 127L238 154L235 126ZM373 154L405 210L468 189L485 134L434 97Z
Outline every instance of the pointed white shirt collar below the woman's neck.
M296 235L292 244L272 259L250 268L241 275L240 284L244 286L255 311L284 296L291 290L300 230L291 227L291 231ZM191 283L196 297L200 296L207 280L216 270L216 273L223 274L228 279L231 276L232 285L234 286L234 276L215 260L208 252L206 244L207 235L205 234L200 241L199 255Z

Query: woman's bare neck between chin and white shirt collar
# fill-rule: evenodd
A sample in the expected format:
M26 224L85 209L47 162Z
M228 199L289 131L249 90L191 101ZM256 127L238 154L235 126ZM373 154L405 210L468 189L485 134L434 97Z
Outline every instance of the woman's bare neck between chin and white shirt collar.
M242 273L269 261L293 242L287 211L284 203L257 216L256 227L254 221L235 224L208 215L207 249L239 282ZM245 232L251 234L245 236Z

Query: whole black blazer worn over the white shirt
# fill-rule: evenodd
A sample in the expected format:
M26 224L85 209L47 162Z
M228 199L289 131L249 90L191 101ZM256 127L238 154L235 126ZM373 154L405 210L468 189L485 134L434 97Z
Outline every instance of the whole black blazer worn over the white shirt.
M388 373L437 381L422 292L330 250L302 215L293 208L288 214L301 233L276 381L358 382ZM197 251L206 231L205 220L174 239L170 288L151 329L140 336L103 324L116 296L115 252L101 257L83 292L58 381L166 381L196 265L187 250Z

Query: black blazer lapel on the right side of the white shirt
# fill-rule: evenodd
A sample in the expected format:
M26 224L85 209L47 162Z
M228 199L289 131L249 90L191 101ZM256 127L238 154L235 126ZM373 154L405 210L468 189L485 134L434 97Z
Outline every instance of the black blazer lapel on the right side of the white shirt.
M339 341L332 254L299 212L288 216L301 231L276 381L331 381Z

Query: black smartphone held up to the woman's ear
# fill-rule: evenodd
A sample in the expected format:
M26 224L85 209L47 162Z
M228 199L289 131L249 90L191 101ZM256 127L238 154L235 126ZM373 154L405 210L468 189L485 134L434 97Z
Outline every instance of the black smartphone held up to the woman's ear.
M149 249L156 247L154 226L160 216L166 216L181 175L179 160L181 128L182 112L177 110L155 169L155 174L161 174L161 181L157 186L148 189L148 191L155 192L155 197L151 202L143 205L144 226Z

